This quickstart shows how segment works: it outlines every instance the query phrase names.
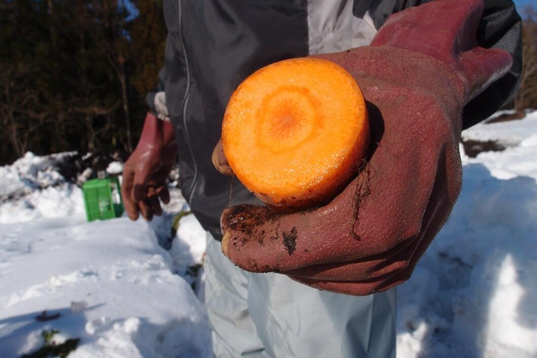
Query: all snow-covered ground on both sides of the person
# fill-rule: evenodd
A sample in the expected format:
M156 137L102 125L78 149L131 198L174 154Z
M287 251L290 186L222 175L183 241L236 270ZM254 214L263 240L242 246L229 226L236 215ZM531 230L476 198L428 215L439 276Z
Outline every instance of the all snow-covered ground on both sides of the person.
M397 356L535 358L537 112L463 138L507 148L461 153L460 199L397 289ZM61 156L0 167L0 357L34 352L51 329L57 343L81 339L69 357L211 356L205 233L186 215L171 237L180 193L151 223L87 223L81 189L54 168ZM45 310L60 317L36 320Z

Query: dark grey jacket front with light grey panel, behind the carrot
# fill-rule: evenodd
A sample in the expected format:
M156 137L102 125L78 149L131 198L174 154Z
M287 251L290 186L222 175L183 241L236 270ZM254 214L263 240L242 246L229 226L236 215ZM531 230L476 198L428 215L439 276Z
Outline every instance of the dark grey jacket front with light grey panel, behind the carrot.
M353 0L168 0L165 91L179 142L183 195L198 220L220 237L222 210L260 203L211 154L231 93L267 64L368 45L376 33Z

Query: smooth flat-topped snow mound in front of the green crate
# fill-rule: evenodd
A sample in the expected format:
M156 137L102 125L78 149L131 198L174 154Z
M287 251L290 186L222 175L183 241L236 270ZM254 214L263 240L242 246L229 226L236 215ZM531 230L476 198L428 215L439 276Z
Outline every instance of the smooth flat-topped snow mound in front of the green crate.
M0 231L0 356L31 352L50 328L82 338L74 358L211 355L202 303L146 222L67 217ZM37 322L43 310L61 317Z

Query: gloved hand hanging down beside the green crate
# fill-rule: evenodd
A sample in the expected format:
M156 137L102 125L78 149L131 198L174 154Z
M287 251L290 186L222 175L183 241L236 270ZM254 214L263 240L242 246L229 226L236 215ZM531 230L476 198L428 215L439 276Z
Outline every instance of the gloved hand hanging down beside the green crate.
M161 204L170 201L166 179L175 164L177 144L172 124L148 113L140 141L123 169L121 196L131 220L138 212L150 221L162 215Z

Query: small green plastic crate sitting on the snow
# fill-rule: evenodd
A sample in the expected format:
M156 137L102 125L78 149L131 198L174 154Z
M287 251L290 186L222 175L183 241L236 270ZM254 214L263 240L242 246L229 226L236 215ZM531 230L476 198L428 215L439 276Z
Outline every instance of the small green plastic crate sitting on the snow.
M118 178L92 179L82 186L88 221L107 220L123 214Z

